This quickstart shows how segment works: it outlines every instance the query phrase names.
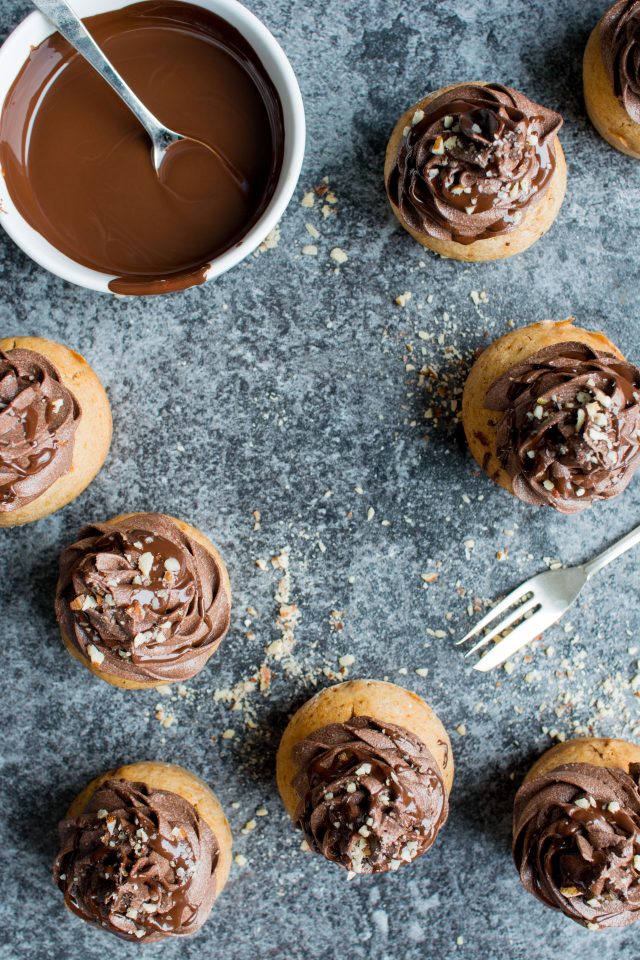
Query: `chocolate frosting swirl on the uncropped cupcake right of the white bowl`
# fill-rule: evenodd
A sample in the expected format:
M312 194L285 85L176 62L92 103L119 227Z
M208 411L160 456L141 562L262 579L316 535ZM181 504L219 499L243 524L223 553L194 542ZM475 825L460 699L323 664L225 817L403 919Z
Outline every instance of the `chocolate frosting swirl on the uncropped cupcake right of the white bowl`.
M556 168L562 117L499 84L452 87L405 129L387 191L413 230L470 244L509 233Z

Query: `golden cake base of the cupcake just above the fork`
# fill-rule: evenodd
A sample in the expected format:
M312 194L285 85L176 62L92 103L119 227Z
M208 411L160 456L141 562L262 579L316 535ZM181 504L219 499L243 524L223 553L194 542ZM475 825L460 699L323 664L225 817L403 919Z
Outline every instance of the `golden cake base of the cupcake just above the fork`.
M471 453L485 473L499 486L513 493L511 477L502 468L496 451L496 423L500 413L485 406L489 387L508 370L523 363L539 350L556 343L579 341L623 359L603 333L591 333L569 320L544 320L513 330L484 350L474 363L462 396L462 422Z

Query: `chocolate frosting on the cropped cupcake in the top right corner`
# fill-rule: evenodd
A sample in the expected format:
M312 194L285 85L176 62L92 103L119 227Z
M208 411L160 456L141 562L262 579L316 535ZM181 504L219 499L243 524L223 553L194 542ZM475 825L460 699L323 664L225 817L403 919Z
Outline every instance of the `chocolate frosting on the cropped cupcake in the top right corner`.
M618 0L600 21L600 50L613 90L640 123L640 0Z

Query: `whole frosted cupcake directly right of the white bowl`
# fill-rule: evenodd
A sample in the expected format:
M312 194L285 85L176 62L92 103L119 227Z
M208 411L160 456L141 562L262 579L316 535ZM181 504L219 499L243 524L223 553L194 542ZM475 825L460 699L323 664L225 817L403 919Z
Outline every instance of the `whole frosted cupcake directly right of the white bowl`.
M391 209L424 247L500 260L539 240L564 199L562 117L510 87L462 83L420 100L391 134Z

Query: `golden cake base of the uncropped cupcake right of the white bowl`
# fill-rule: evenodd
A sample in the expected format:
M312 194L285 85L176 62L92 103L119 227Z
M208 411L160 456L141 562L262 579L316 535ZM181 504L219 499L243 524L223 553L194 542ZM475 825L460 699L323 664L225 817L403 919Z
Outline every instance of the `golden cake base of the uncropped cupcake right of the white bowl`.
M450 84L423 97L422 100L415 103L400 117L387 144L384 164L385 184L388 182L391 171L395 165L398 151L404 139L404 130L406 127L411 126L411 120L416 110L424 110L427 104L449 90L455 90L456 87L469 85L484 86L480 81L473 81L471 84ZM455 240L438 240L418 230L414 230L405 223L400 210L390 200L391 209L401 226L404 227L407 233L411 234L414 240L423 247L433 250L434 253L439 254L441 257L447 257L451 260L465 260L472 263L504 260L507 257L513 257L517 253L522 253L524 250L527 250L536 243L540 237L544 236L553 225L562 206L567 189L567 164L562 145L557 139L555 142L555 150L556 169L544 198L526 213L520 225L509 233L489 237L486 240L475 240L470 244L457 243Z

